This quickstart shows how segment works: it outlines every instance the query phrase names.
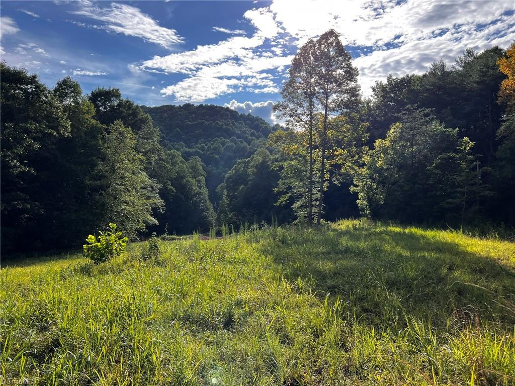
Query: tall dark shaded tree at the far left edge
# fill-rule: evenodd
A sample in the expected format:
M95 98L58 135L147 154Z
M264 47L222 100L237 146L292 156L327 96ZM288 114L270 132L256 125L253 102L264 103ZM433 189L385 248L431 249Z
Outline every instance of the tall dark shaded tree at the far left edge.
M56 144L70 136L70 122L36 75L4 62L0 68L2 247L26 250L44 241L39 221L49 208Z

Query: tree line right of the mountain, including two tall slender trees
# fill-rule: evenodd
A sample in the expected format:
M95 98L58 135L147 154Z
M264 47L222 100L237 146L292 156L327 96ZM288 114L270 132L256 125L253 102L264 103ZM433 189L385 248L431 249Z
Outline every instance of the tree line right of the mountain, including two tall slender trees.
M370 98L357 76L334 30L300 48L275 106L285 125L227 174L219 219L269 219L270 202L252 198L260 186L308 224L515 225L515 43L390 75Z

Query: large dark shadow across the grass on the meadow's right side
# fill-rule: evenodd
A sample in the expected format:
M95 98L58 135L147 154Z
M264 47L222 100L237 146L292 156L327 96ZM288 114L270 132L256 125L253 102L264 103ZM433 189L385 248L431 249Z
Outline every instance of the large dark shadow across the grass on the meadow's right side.
M264 238L262 249L291 283L300 278L318 296L339 296L349 315L371 324L397 328L415 317L435 326L512 326L515 270L492 257L496 251L478 255L443 238L394 227L289 228Z

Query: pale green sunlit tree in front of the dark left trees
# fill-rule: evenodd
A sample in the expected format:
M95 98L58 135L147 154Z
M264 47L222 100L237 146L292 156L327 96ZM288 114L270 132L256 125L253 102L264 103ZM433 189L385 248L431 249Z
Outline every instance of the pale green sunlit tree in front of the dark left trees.
M100 148L94 208L101 214L101 227L115 221L125 235L134 239L147 225L157 224L152 210L163 206L159 185L145 173L144 159L136 152L135 135L121 121L109 126Z

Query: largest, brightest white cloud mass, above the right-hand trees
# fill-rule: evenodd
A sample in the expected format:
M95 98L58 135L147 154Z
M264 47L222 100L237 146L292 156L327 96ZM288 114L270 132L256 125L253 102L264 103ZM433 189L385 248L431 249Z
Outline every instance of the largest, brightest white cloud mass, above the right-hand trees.
M274 0L274 19L301 45L329 28L356 49L354 63L365 94L389 73L422 73L434 61L453 61L466 47L507 47L515 40L513 2L503 0ZM364 50L365 51L365 50ZM367 51L365 51L367 52Z

